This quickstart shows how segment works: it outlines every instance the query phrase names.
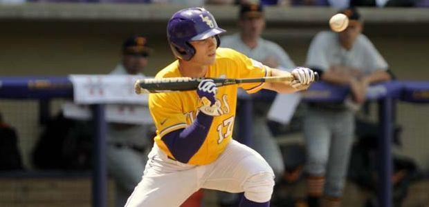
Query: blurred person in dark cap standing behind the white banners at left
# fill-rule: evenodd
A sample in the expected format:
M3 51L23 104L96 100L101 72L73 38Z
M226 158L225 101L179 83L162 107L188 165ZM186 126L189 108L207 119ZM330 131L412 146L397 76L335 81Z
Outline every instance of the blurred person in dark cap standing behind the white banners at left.
M151 52L145 37L129 37L122 46L122 61L110 75L143 75ZM107 168L116 180L116 206L125 205L143 176L147 153L152 146L151 130L152 125L108 125Z

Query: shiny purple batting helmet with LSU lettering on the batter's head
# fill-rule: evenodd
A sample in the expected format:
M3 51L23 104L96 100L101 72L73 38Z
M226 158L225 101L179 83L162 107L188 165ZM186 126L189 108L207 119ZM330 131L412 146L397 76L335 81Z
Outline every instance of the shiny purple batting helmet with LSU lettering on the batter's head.
M186 8L176 12L167 24L167 38L176 57L185 61L195 55L195 48L189 43L216 37L217 47L220 39L218 34L226 32L217 26L215 17L204 8Z

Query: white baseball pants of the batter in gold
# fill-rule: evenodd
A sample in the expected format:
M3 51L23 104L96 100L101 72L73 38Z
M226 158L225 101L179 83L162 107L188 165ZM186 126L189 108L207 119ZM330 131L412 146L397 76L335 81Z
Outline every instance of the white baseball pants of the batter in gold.
M140 183L128 198L127 207L180 206L200 188L244 196L263 203L271 199L274 173L255 150L231 140L211 164L194 166L174 161L154 144Z

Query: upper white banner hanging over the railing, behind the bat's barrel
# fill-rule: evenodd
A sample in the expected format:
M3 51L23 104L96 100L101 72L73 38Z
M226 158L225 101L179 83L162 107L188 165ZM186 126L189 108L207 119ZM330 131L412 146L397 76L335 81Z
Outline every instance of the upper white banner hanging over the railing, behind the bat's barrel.
M75 103L147 103L148 95L134 92L134 82L143 79L140 75L70 75L69 78Z

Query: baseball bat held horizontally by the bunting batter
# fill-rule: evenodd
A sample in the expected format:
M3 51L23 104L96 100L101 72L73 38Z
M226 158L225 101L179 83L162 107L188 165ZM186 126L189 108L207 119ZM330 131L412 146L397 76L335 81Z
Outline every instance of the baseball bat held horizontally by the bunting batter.
M212 79L216 86L229 86L238 83L273 83L283 81L293 81L293 75L282 77L261 77L261 78L245 78L245 79L221 79L221 78L191 78L191 77L171 77L161 79L140 79L134 83L136 94L156 93L156 92L174 92L197 90L198 84L203 79ZM318 81L319 75L314 73L315 81Z

